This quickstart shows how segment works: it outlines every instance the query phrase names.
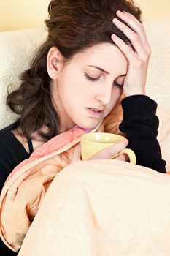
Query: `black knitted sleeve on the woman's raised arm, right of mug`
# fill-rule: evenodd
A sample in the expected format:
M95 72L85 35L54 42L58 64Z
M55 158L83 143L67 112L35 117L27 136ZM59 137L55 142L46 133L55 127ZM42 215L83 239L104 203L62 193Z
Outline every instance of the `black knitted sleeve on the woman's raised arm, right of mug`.
M134 95L121 102L123 121L119 129L128 139L128 148L136 154L136 164L166 173L166 162L159 146L157 104L150 97Z

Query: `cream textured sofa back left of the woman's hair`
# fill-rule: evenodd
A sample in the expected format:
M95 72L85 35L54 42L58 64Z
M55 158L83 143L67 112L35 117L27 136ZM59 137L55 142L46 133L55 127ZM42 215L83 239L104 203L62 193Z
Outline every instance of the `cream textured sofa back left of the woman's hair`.
M20 84L20 73L28 69L31 56L47 33L44 29L26 29L0 33L0 129L10 124L15 115L7 110L7 86L15 89Z

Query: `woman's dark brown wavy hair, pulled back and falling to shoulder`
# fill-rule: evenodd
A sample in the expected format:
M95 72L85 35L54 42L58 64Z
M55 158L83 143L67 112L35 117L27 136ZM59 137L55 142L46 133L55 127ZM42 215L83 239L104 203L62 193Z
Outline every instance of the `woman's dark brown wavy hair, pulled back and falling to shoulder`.
M47 73L47 53L55 46L66 61L90 46L109 42L117 34L126 43L128 38L112 23L116 11L126 11L141 21L141 10L132 0L52 0L45 20L48 36L37 50L30 69L21 75L21 85L7 96L7 105L20 117L18 124L23 136L31 138L38 131L49 140L58 134L58 114L50 94ZM46 126L47 132L41 128Z

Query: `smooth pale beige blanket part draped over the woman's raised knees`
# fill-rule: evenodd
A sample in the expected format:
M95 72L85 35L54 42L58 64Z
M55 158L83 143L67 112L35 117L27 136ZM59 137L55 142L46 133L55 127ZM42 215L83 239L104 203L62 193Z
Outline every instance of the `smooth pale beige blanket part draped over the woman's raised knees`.
M116 160L55 177L19 256L169 256L170 176Z

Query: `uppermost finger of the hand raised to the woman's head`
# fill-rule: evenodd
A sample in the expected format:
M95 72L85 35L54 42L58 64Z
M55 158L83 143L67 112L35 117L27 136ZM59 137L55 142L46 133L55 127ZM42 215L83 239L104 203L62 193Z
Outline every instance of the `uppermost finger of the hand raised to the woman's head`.
M140 23L139 20L137 20L134 17L134 15L131 15L131 13L129 13L129 12L117 11L116 14L119 18L121 18L121 20L123 20L125 23L127 23L128 26L130 26L131 29L136 32L136 34L139 35L143 47L145 48L145 50L147 50L147 53L148 52L150 53L150 44L147 40L147 34L144 30L143 24Z

